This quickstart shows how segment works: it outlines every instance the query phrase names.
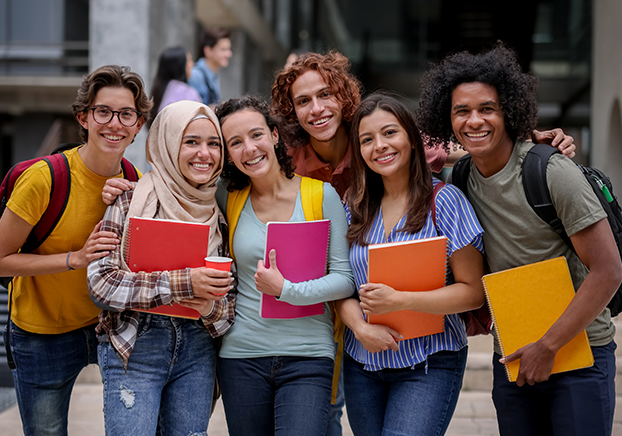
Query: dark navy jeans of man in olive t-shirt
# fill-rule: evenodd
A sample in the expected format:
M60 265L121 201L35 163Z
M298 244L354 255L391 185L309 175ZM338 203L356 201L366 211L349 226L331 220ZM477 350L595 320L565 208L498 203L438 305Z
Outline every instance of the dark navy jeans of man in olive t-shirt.
M615 411L615 342L592 347L594 365L552 374L533 386L509 382L500 355L493 357L492 399L499 433L608 436Z

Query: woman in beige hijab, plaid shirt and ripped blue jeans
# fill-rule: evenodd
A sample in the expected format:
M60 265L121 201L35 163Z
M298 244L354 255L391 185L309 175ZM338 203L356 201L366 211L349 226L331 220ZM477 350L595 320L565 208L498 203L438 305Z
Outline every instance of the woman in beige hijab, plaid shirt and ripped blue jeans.
M128 217L205 223L208 255L227 256L226 223L214 197L222 135L212 110L191 101L164 108L147 138L147 161L152 170L108 208L102 229L122 239ZM233 324L233 278L205 267L133 273L123 245L88 268L91 297L104 309L97 333L106 435L153 436L158 426L166 435L205 434L215 338ZM132 310L173 302L198 310L201 319Z

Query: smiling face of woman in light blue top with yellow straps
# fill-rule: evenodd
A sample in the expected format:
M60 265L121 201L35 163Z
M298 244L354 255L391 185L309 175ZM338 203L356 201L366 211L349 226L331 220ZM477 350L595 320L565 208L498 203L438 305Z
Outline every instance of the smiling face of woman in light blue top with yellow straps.
M254 179L280 171L274 152L279 134L270 131L262 114L253 109L234 112L221 121L221 128L229 159L244 174Z

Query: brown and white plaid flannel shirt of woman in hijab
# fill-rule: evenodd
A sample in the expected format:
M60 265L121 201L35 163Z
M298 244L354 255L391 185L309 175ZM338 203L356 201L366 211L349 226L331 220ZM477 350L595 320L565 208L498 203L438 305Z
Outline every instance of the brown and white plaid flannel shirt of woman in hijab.
M101 231L123 235L123 226L130 207L133 190L121 194L104 215ZM219 213L219 226L222 243L220 256L229 255L228 228L222 213ZM136 336L140 312L132 309L151 309L163 304L171 304L185 298L192 298L190 268L177 271L131 273L121 269L121 244L110 253L88 267L88 285L91 298L98 307L106 307L99 314L98 336L105 337L127 365ZM233 266L235 276L235 266ZM234 289L221 300L214 301L212 310L201 317L209 334L216 338L231 328L234 322L237 298L237 280ZM157 316L157 315L156 315Z

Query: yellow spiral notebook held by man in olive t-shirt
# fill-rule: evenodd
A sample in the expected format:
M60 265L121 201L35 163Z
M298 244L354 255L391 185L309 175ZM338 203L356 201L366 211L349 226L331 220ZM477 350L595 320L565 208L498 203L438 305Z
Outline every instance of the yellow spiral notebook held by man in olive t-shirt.
M488 274L482 281L504 357L540 339L575 295L563 256ZM593 364L592 349L583 330L559 350L551 373ZM519 366L520 360L505 365L510 381L516 381Z

